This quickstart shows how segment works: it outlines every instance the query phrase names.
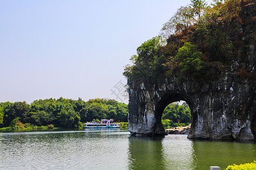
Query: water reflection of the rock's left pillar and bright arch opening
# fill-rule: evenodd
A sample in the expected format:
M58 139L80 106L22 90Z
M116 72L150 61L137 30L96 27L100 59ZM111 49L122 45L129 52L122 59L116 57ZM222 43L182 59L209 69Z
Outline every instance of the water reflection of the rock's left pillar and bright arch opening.
M195 169L193 142L186 135L130 137L129 169Z

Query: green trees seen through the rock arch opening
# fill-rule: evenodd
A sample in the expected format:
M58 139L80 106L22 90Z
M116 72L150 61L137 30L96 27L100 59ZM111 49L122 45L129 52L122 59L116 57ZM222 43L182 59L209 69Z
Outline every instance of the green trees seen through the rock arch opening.
M189 125L191 123L191 111L187 103L179 105L172 103L167 105L163 111L162 124L164 127L176 127Z

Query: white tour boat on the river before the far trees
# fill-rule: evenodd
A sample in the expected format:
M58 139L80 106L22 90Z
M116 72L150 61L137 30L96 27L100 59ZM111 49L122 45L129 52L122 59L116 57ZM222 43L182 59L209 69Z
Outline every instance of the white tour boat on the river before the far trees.
M120 124L114 123L113 119L110 119L110 120L102 119L100 123L97 123L97 122L86 123L84 128L120 128Z

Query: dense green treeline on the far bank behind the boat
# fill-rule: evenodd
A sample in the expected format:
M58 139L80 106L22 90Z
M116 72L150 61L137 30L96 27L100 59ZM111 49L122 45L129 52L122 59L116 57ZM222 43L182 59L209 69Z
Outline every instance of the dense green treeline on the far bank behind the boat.
M81 122L94 119L113 118L127 122L128 108L115 100L45 99L35 100L31 104L23 102L0 103L0 127L47 126L79 128ZM13 128L15 129L15 128Z

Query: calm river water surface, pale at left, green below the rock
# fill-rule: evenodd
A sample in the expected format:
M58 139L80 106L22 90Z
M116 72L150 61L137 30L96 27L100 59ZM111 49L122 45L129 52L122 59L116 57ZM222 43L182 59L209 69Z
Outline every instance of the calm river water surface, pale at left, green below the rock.
M256 143L130 137L126 130L0 133L0 169L210 169L256 160Z

